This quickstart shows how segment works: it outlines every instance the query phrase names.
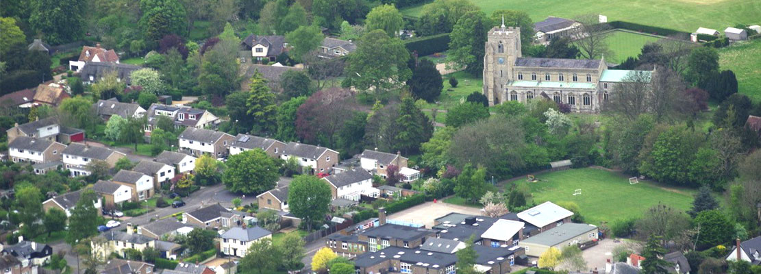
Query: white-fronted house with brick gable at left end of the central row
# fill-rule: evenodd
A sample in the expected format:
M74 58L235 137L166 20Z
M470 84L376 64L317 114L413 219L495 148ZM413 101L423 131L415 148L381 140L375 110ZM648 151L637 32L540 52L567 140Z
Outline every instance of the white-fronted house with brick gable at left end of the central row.
M228 155L228 145L235 136L225 132L210 129L196 129L189 127L180 136L180 149L189 151L192 155L209 154L213 157Z

